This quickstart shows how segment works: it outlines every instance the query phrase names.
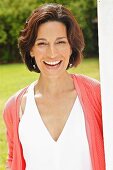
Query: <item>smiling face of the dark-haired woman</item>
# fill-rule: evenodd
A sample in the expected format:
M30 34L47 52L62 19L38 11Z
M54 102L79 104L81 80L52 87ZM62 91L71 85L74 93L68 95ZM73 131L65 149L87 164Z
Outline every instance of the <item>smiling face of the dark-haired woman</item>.
M39 26L30 54L35 57L41 74L58 76L66 72L71 53L66 26L63 23L49 21Z

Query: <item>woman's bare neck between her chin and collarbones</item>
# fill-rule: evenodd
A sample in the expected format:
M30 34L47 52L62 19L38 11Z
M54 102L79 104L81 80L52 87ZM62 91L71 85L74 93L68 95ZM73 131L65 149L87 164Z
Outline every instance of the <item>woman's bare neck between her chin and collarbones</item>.
M35 93L57 96L74 89L73 80L67 72L59 77L48 78L40 74Z

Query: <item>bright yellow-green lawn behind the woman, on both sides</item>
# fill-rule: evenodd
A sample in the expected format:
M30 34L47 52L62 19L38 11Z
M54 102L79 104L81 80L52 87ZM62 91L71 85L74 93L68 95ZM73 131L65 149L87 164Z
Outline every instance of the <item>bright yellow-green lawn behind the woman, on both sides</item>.
M69 72L99 79L98 59L84 59L77 68L72 68ZM9 96L37 79L38 76L39 74L29 72L23 64L0 65L0 170L5 169L7 157L5 126L2 119L4 103Z

